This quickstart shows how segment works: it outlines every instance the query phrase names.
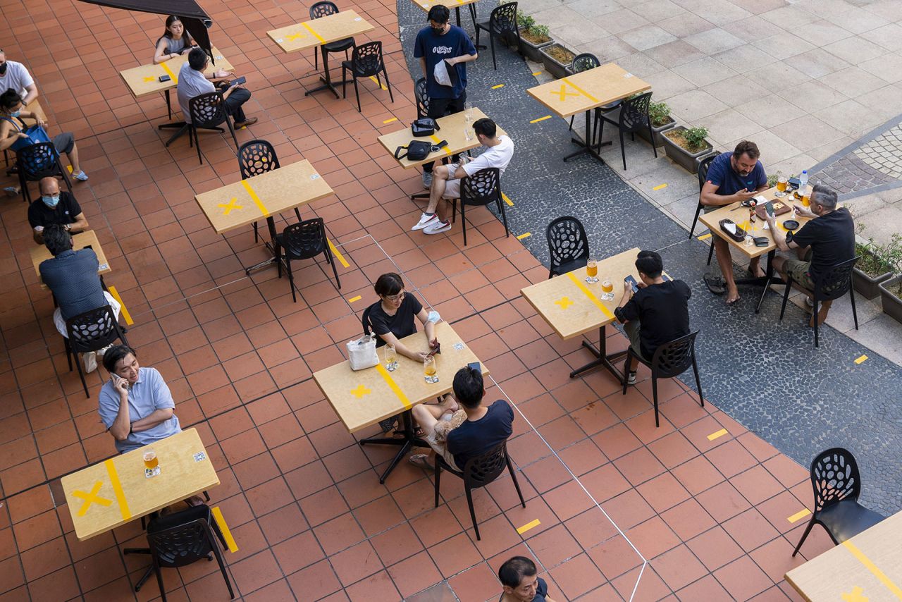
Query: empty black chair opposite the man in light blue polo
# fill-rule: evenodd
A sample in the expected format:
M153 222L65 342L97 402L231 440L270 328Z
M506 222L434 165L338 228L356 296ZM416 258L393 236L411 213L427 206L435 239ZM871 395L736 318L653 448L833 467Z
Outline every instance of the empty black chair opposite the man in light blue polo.
M216 533L216 535L214 535ZM223 561L222 551L216 540L222 543L225 549L226 540L207 505L196 505L173 514L154 516L147 525L147 542L149 548L126 548L125 554L149 554L151 567L134 586L134 591L141 591L144 582L152 573L157 575L157 585L160 587L160 595L166 602L166 587L163 585L161 568L176 569L206 559L212 562L213 556L219 563L219 570L226 579L226 587L229 596L235 598L232 582L228 579L226 563Z

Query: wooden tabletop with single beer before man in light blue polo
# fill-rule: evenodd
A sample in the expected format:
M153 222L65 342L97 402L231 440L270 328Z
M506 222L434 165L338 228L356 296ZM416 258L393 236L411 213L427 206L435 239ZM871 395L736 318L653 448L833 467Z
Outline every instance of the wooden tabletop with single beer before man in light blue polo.
M112 448L112 437L109 443ZM79 541L219 485L196 429L146 447L153 448L160 459L160 474L156 477L144 476L145 448L62 477L62 490Z

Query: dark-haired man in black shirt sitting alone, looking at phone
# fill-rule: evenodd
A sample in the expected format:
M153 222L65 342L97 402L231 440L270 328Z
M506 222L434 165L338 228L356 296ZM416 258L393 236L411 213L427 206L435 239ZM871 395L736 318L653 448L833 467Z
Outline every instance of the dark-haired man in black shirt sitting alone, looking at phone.
M655 349L676 338L689 334L689 297L692 290L682 280L664 280L664 262L654 251L640 251L636 256L640 282L638 292L623 281L623 295L614 317L623 325L630 338L633 353L647 362ZM627 384L636 384L639 360L632 358L627 371Z

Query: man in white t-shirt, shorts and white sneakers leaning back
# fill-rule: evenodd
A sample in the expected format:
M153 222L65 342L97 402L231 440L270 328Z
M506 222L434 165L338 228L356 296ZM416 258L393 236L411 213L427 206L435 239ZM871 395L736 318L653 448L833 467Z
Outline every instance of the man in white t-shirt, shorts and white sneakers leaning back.
M498 128L491 119L483 117L473 124L476 139L485 146L485 152L470 162L461 157L459 163L437 167L432 173L429 204L411 230L423 230L426 234L439 234L451 229L447 217L447 200L460 198L460 181L476 171L496 167L503 174L513 157L513 141L506 135L496 135Z

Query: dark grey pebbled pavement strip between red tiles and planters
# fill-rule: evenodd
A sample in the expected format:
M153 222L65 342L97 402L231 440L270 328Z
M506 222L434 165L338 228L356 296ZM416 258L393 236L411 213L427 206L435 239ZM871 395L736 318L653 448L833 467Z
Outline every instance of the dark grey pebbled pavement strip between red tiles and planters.
M487 19L487 7L477 6L480 19ZM472 32L463 13L464 28ZM398 20L401 47L417 79L413 38L425 13L399 0ZM861 465L862 502L882 514L902 510L902 368L875 354L856 365L854 359L868 349L829 326L815 351L803 311L790 304L779 322L781 298L773 292L759 314L758 288L743 289L732 307L713 297L702 282L708 246L687 240L686 230L606 165L588 156L563 162L574 150L566 121L530 124L548 115L525 93L536 79L519 55L498 44L495 51L497 70L482 58L468 65L467 96L502 125L516 147L502 181L514 203L506 208L511 236L529 233L523 244L548 265L545 227L571 215L583 222L597 257L634 246L658 249L667 271L693 291L689 308L693 328L701 330L696 354L705 397L805 467L822 449L851 449ZM491 51L481 52L489 58ZM498 84L504 86L492 89ZM695 387L692 380L689 375L684 382Z

